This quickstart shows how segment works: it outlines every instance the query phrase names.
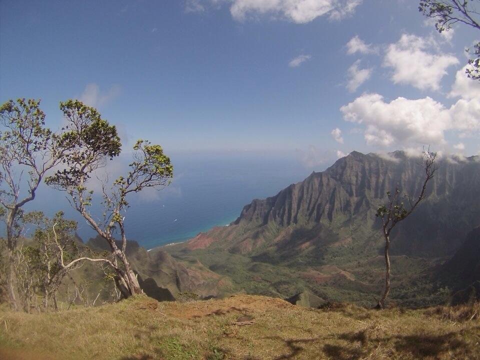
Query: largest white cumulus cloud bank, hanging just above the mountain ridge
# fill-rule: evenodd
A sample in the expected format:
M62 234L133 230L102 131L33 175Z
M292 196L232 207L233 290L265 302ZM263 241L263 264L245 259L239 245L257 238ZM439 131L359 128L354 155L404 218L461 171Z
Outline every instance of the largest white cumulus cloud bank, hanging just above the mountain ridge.
M363 124L368 144L412 146L446 144L445 131L480 132L480 99L460 99L446 108L430 97L398 97L366 93L340 108L346 121Z

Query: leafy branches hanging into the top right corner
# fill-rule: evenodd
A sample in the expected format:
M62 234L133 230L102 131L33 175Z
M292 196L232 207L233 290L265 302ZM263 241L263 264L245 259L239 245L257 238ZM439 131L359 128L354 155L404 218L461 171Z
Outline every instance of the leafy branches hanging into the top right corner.
M463 23L480 30L480 0L421 0L418 10L433 18L438 32L448 31L453 24ZM469 49L466 49L469 52ZM480 42L473 46L473 58L468 60L465 72L473 80L480 80Z

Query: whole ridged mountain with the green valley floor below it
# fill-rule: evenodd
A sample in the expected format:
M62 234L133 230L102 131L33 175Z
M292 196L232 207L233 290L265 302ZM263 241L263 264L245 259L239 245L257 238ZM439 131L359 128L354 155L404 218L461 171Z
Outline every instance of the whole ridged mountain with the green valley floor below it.
M253 200L229 226L164 249L229 277L236 290L290 297L309 289L324 299L373 302L383 271L375 209L396 184L418 194L419 163L402 151L353 151L275 196ZM427 275L480 225L478 157L443 158L437 167L427 199L392 232L392 297L399 302L438 301L442 294Z

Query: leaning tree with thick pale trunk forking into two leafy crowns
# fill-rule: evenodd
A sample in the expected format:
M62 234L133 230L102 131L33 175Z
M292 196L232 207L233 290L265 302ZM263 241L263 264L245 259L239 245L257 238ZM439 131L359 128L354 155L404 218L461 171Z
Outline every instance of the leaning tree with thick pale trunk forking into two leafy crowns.
M147 187L162 187L170 183L173 166L160 145L138 140L133 146L130 170L108 187L102 184L103 218L96 220L89 212L93 190L88 188L92 174L106 164L107 159L120 154L121 142L114 125L101 118L97 110L78 100L60 103L60 109L71 129L62 136L69 146L63 159L64 168L48 176L47 184L66 191L70 203L88 224L108 243L109 264L116 273L115 283L123 297L141 293L138 280L126 256L127 239L122 212L129 206L127 195ZM71 145L71 146L70 146ZM115 240L118 233L120 240Z

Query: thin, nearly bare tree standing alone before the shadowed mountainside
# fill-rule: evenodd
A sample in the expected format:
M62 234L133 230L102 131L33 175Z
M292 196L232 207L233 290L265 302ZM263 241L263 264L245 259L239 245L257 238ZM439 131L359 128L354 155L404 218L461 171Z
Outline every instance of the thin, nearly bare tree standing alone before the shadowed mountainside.
M433 178L433 175L436 171L435 167L435 157L436 153L423 151L423 164L421 166L424 169L425 177L423 179L423 184L420 190L418 197L412 198L409 195L400 196L400 189L397 185L395 191L391 193L387 192L388 203L386 205L378 206L376 210L376 216L381 219L381 231L385 240L384 246L384 256L385 256L385 289L383 295L378 300L376 305L377 308L383 308L385 306L385 300L388 297L390 292L390 257L389 257L389 248L390 248L390 232L396 226L396 224L404 220L408 215L410 215L413 210L418 206L420 201L425 198L425 190L428 181ZM408 201L408 204L402 201L405 199Z

